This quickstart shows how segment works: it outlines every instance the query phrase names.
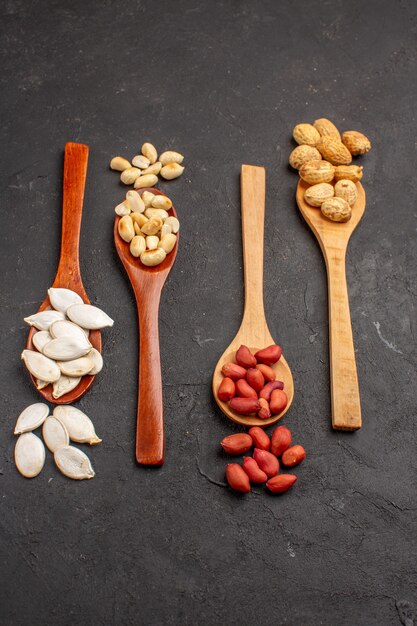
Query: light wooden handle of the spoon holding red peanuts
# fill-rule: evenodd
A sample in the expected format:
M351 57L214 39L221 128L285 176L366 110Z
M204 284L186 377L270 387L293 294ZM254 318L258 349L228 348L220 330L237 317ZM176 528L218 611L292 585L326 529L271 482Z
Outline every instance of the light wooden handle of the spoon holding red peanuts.
M263 265L265 219L265 169L242 165L242 241L245 274L245 308L242 327L262 345L264 331ZM259 335L257 337L256 335Z

